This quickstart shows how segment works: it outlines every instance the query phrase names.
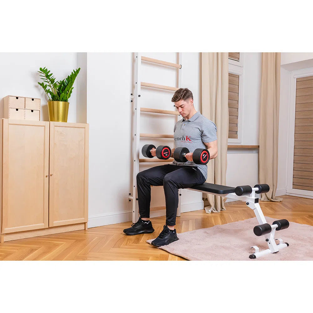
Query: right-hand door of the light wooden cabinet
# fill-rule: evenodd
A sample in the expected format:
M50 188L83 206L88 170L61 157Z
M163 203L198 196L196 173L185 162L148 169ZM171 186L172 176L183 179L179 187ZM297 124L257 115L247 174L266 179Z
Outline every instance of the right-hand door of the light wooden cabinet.
M49 227L88 222L89 125L50 122Z

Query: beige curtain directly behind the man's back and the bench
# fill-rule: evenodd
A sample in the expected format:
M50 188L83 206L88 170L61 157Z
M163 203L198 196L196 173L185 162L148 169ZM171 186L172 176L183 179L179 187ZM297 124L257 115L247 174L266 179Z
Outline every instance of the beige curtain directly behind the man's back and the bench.
M202 53L202 115L217 127L218 156L208 162L207 182L226 185L228 145L228 53ZM207 193L207 213L225 210L225 197Z

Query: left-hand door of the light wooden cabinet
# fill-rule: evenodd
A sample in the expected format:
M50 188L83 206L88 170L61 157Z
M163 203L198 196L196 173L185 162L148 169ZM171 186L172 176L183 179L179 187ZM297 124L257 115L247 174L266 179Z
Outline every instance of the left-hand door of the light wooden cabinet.
M48 227L49 122L3 119L2 233Z

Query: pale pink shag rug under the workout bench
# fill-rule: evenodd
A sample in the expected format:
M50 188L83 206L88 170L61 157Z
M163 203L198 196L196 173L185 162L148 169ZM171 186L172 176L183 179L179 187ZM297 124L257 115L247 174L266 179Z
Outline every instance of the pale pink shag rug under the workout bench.
M265 217L272 224L276 219ZM264 236L255 236L257 218L215 225L210 228L177 233L179 240L158 249L181 256L191 261L302 261L313 260L313 226L289 222L289 227L275 232L275 239L281 238L289 247L275 254L267 254L257 259L249 259L254 253L252 246L260 251L268 249ZM147 240L150 244L154 239ZM278 241L277 241L278 243Z

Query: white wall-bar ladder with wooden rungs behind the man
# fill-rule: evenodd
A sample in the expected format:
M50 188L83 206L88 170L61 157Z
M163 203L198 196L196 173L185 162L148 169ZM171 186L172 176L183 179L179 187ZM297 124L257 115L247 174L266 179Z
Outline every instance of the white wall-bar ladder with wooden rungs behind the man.
M161 114L171 114L171 115L179 115L177 111L167 111L167 110L158 110L158 109L150 109L150 108L143 108L141 107L142 97L141 97L141 86L144 87L151 87L163 90L172 90L176 91L177 89L181 88L182 86L182 53L178 54L178 64L170 63L162 60L147 58L141 55L141 53L135 53L135 88L131 94L130 102L133 103L133 179L132 179L132 192L129 193L128 199L132 202L132 222L137 222L139 218L139 207L138 207L138 200L137 200L137 181L136 177L139 173L139 163L141 162L172 162L173 158L168 160L155 160L155 159L140 159L140 137L151 137L151 138L174 138L173 135L165 135L165 134L141 134L140 133L140 113L141 112L151 112L151 113L161 113ZM146 83L141 81L141 61L151 62L155 64L161 64L165 66L170 66L177 68L178 70L178 87L170 87L164 85L156 85L151 83ZM179 189L179 194L181 194L181 189ZM180 201L179 197L179 201ZM180 206L179 206L180 207ZM177 216L180 216L180 212L177 211Z

